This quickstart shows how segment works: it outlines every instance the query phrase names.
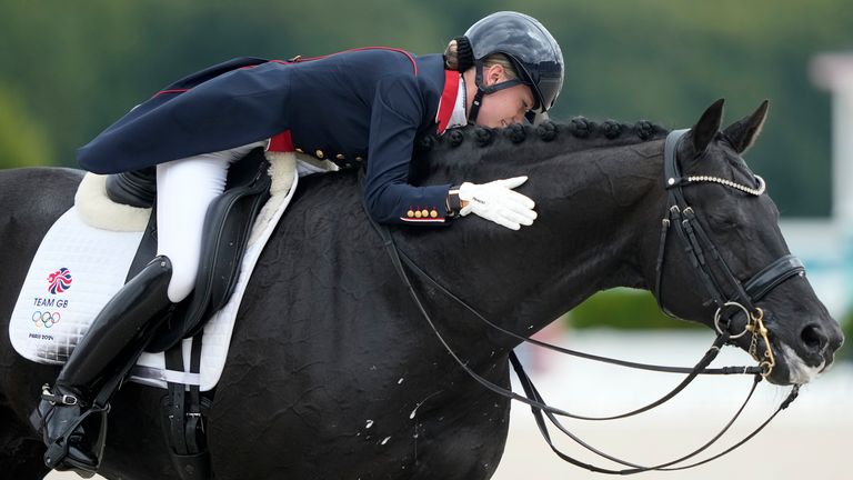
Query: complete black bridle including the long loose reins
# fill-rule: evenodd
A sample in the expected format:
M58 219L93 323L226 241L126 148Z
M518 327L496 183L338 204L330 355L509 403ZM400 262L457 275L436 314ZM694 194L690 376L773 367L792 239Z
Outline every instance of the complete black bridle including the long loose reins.
M779 414L779 412L786 409L799 394L800 387L795 384L792 387L791 392L789 393L786 399L770 416L770 418L766 421L764 421L762 424L760 424L752 433L746 436L744 439L742 439L734 446L702 461L698 461L686 466L675 467L676 464L682 463L685 460L695 457L696 454L701 453L702 451L706 450L709 447L714 444L729 430L729 428L732 424L734 424L735 420L743 412L744 408L746 407L750 399L752 398L752 394L755 391L755 388L757 387L762 378L767 377L772 372L772 369L775 363L774 363L773 353L770 347L771 343L770 343L769 332L763 323L764 312L762 309L755 307L755 302L757 302L761 298L766 296L773 288L782 283L786 279L795 274L804 274L804 271L805 271L802 262L799 259L796 259L793 256L785 256L774 261L770 266L767 266L765 269L756 273L754 277L752 277L750 280L747 280L744 283L741 283L734 277L731 269L725 263L724 259L720 256L716 247L710 240L704 229L702 228L701 223L699 223L699 221L696 220L694 210L686 203L682 189L691 183L696 183L696 182L716 182L716 183L743 191L749 194L760 196L764 192L764 181L761 179L761 177L755 176L757 187L752 188L752 187L740 186L725 179L720 179L720 178L709 177L709 176L682 177L681 169L679 168L679 162L678 162L678 148L681 140L684 137L684 133L686 132L688 130L676 130L671 132L666 137L666 141L664 144L664 187L668 192L668 206L666 206L666 213L664 214L663 222L662 222L660 248L659 248L658 261L655 264L655 277L656 277L655 293L656 293L658 302L661 309L668 314L672 314L663 304L662 286L663 286L663 266L664 266L664 258L665 258L668 232L670 230L670 227L674 224L676 226L675 229L679 232L679 237L682 239L682 241L685 244L685 251L688 252L688 257L691 261L691 264L694 267L694 270L696 271L696 274L700 278L700 281L705 286L705 289L709 291L709 294L711 296L711 301L714 302L714 304L716 304L717 307L716 313L714 316L714 326L717 331L717 337L714 339L714 342L712 343L711 348L709 348L709 350L705 352L702 359L692 369L679 368L679 367L651 366L651 364L644 364L644 363L629 362L624 360L610 359L606 357L593 356L593 354L578 352L578 351L565 349L562 347L553 346L550 343L545 343L539 340L531 339L529 337L520 336L510 330L506 330L491 322L486 318L484 318L473 307L469 306L465 301L463 301L462 299L453 294L451 291L444 288L441 283L439 283L432 276L430 276L420 266L418 266L418 263L414 262L405 252L400 251L397 248L394 239L391 236L391 232L388 230L388 228L378 224L370 217L369 213L367 216L368 219L370 219L370 222L375 229L375 231L382 238L383 247L385 248L387 252L389 253L389 257L391 258L391 262L394 267L394 270L400 276L400 279L403 281L403 284L409 290L409 293L412 297L414 304L420 310L421 316L429 323L430 328L435 333L441 344L444 347L448 353L450 353L450 356L454 359L454 361L462 368L462 370L464 370L464 372L469 377L471 377L473 380L475 380L478 383L500 394L501 397L504 397L510 400L516 400L530 406L533 412L534 419L536 421L536 426L539 427L540 432L542 433L543 438L545 439L548 444L551 447L551 449L561 459L594 472L609 473L609 474L633 474L633 473L640 473L640 472L650 471L650 470L659 470L659 471L660 470L683 470L683 469L689 469L689 468L693 468L693 467L698 467L700 464L706 463L709 461L712 461L714 459L717 459L731 452L732 450L739 448L740 446L742 446L743 443L752 439L755 434L757 434L761 430L763 430L764 427L766 427L770 423L770 421L773 420L776 417L776 414ZM363 183L363 170L361 170L359 174L360 174L360 182ZM364 203L363 200L362 200L362 206L364 208L364 211L368 212L367 204ZM705 246L704 248L703 248L703 244ZM732 296L727 296L724 293L724 291L720 287L720 282L716 280L716 277L713 270L711 269L710 262L715 262L717 264L717 268L723 271L723 277L724 277L723 280L725 281L725 283L730 284L734 290L734 293ZM633 411L630 411L623 414L618 414L618 416L609 416L609 417L580 416L580 414L574 414L565 410L551 407L548 403L545 403L544 399L539 393L536 388L533 386L533 382L524 371L521 362L515 357L514 352L510 352L510 362L513 369L515 370L515 373L518 374L525 392L525 396L520 396L511 390L504 389L503 387L500 387L486 380L485 378L481 377L475 371L473 371L465 361L463 361L456 356L456 353L453 351L450 344L444 340L444 338L435 327L431 316L424 308L423 302L421 301L417 290L412 286L409 274L407 273L407 269L403 266L408 267L421 280L425 281L431 287L435 288L438 291L442 292L444 296L446 296L448 298L450 298L451 300L453 300L454 302L456 302L458 304L466 309L469 312L471 312L474 317L476 317L479 320L481 320L489 327L495 330L499 330L502 333L509 337L512 337L516 340L533 343L535 346L554 350L561 353L585 358L589 360L595 360L595 361L613 363L622 367L635 368L635 369L642 369L642 370L651 370L651 371L668 372L668 373L686 373L686 377L672 391L670 391L669 393L663 396L661 399L645 407L635 409ZM731 327L731 318L741 311L746 313L747 324L742 332L731 334L729 332L729 329ZM733 340L743 337L747 332L751 332L753 336L751 347L750 347L750 353L760 363L759 367L723 367L723 368L716 368L716 369L708 368L709 364L716 358L716 356L720 352L720 349L724 344L731 343ZM761 338L764 341L764 344L766 347L765 352L763 352L761 358L757 356L759 338ZM692 453L689 453L676 460L672 460L665 463L660 463L656 466L643 467L636 463L618 459L613 456L606 454L595 449L594 447L583 442L583 440L574 436L555 418L555 416L560 416L560 417L580 419L580 420L600 421L600 420L615 420L615 419L622 419L622 418L635 416L635 414L645 412L648 410L651 410L655 407L659 407L664 402L669 401L670 399L675 397L679 392L681 392L684 388L686 388L686 386L700 374L752 374L754 380L752 383L752 388L749 394L746 396L746 399L744 400L743 404L735 412L734 417L723 427L723 429L716 436L714 436L709 442L706 442L699 449L694 450ZM551 436L550 436L550 432L548 431L548 426L545 424L544 418L548 418L548 420L551 421L551 423L553 423L560 431L569 436L572 440L574 440L585 449L601 456L602 458L630 467L630 469L612 470L612 469L600 468L590 463L582 462L580 460L576 460L561 452L559 449L556 449L556 447L551 441Z

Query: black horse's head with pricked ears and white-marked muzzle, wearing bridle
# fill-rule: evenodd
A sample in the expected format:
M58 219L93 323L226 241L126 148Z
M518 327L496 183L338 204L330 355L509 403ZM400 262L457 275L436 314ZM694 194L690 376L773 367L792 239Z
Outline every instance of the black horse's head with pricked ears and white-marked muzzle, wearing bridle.
M764 276L765 294L744 294L750 280L790 252L779 229L776 206L763 192L763 180L741 158L761 131L767 103L720 131L722 107L722 100L712 104L678 143L675 161L681 177L669 181L676 183L668 189L668 214L673 227L666 237L661 286L655 294L676 316L700 320L714 329L725 329L725 319L731 317L727 330L732 336L743 332L747 324L759 330L761 319L766 337L747 331L734 341L760 361L775 362L770 381L805 383L830 367L843 336L805 276L791 274L801 273L792 268L796 267L795 259L776 263L776 272L785 274ZM675 189L684 203L679 206L681 211L673 212ZM673 231L678 229L681 231ZM714 247L722 262L714 259ZM701 256L693 253L698 249ZM732 304L715 316L723 302ZM765 339L770 341L772 360L765 352Z

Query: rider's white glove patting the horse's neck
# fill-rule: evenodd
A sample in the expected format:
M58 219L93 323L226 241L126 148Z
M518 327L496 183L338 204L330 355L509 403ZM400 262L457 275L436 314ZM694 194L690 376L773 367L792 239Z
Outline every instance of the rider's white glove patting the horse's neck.
M535 203L512 191L525 181L526 177L515 177L484 184L462 183L459 187L459 199L468 201L468 204L459 213L464 217L473 212L511 230L533 224L536 219L536 212L533 211Z

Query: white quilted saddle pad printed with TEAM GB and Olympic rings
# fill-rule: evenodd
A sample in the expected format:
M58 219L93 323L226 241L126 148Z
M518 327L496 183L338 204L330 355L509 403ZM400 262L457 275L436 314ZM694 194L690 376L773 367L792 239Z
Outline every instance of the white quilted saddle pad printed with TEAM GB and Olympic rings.
M299 174L309 173L302 164L294 168L292 153L275 157L270 159L271 198L252 228L237 288L229 302L204 326L200 373L167 370L163 353L143 353L131 372L132 381L162 388L167 381L198 384L202 391L215 387L254 264L293 197ZM68 360L92 320L124 284L139 247L141 231L91 227L81 216L86 209L82 204L72 207L51 227L32 260L12 311L11 343L29 360L51 364ZM86 217L90 217L89 212ZM185 366L190 364L190 344L191 340L183 341Z

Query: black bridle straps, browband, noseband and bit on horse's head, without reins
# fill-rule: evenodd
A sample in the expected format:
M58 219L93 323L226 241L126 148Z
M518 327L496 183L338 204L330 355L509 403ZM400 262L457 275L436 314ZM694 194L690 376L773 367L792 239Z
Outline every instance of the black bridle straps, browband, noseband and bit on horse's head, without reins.
M714 246L714 242L711 241L711 238L705 232L702 223L698 220L695 210L684 198L683 190L691 184L714 182L753 197L760 197L765 190L764 179L754 176L757 186L746 187L731 180L711 176L683 177L679 166L678 152L688 131L672 131L666 136L666 142L663 148L663 180L668 199L666 212L661 224L661 241L655 264L655 297L658 306L670 317L675 317L664 306L663 301L663 266L666 253L666 233L670 231L671 226L675 226L675 231L678 231L679 238L684 244L684 251L690 264L710 296L705 304L713 303L716 306L714 328L719 334L729 333L730 340L739 339L747 332L751 333L752 339L749 352L760 363L762 376L766 378L773 371L775 359L767 329L764 327L764 310L756 307L755 303L789 278L797 274L804 276L805 268L800 259L792 254L786 254L769 264L746 282L741 283L732 273L732 269L729 268L716 246ZM722 279L717 279L712 264L715 264L716 270L722 272ZM729 286L731 293L726 293L723 286ZM746 326L741 332L730 331L732 318L741 312L746 318ZM757 353L759 338L764 341L765 347L761 357Z

